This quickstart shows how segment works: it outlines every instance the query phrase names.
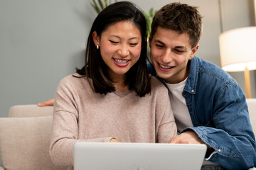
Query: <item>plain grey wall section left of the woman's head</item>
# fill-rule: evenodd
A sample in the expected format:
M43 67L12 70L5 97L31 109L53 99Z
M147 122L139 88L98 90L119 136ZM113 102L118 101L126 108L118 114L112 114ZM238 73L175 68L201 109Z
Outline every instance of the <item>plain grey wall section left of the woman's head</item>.
M54 97L82 67L95 16L87 0L0 0L0 117Z

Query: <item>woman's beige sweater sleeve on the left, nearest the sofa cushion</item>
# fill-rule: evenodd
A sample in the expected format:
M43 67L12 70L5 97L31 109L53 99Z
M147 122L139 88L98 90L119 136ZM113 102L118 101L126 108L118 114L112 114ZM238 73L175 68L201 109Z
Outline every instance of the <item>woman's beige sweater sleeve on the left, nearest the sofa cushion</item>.
M55 94L53 128L50 139L50 158L57 166L73 165L75 142L109 142L112 137L78 140L78 108L70 79L63 79Z

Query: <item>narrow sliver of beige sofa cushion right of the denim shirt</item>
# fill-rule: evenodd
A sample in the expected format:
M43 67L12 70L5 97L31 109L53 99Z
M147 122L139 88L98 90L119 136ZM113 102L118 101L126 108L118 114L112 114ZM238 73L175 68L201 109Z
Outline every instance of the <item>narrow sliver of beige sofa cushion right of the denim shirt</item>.
M256 135L256 98L247 98L246 102L250 115L250 122L252 124L252 130Z

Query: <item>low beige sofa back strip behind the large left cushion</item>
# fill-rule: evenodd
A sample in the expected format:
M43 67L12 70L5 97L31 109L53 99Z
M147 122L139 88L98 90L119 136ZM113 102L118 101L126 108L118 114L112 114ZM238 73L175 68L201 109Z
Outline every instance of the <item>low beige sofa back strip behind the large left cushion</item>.
M53 115L53 106L16 105L9 109L9 117L36 117Z

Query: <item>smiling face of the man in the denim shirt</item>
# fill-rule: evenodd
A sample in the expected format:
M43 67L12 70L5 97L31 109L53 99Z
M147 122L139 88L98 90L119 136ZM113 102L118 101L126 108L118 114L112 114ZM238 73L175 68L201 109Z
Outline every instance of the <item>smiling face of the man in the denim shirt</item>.
M188 77L188 60L194 57L198 45L191 49L187 33L159 27L149 45L151 62L159 77L169 84L177 84Z

